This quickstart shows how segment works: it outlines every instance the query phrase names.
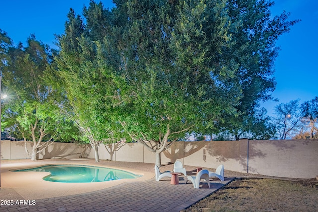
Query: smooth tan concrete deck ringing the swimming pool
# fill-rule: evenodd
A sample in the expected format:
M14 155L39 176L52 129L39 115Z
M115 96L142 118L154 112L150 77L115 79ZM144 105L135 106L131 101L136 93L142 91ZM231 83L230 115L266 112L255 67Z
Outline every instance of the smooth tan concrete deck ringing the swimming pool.
M15 161L15 162L14 162ZM50 164L72 164L72 165L93 165L107 168L121 169L134 174L143 175L136 179L121 179L107 182L94 183L59 183L42 180L48 172L12 172L10 170L32 168ZM67 195L81 194L97 191L119 185L124 182L138 182L153 178L154 173L138 171L125 167L114 167L95 163L95 160L56 160L46 159L38 161L23 160L2 160L1 161L1 189L13 189L21 197L19 199L36 200L51 197L62 197ZM45 189L43 189L45 188ZM1 192L2 193L2 192ZM0 194L1 194L0 193ZM1 195L2 196L2 195ZM1 198L2 199L2 198Z

